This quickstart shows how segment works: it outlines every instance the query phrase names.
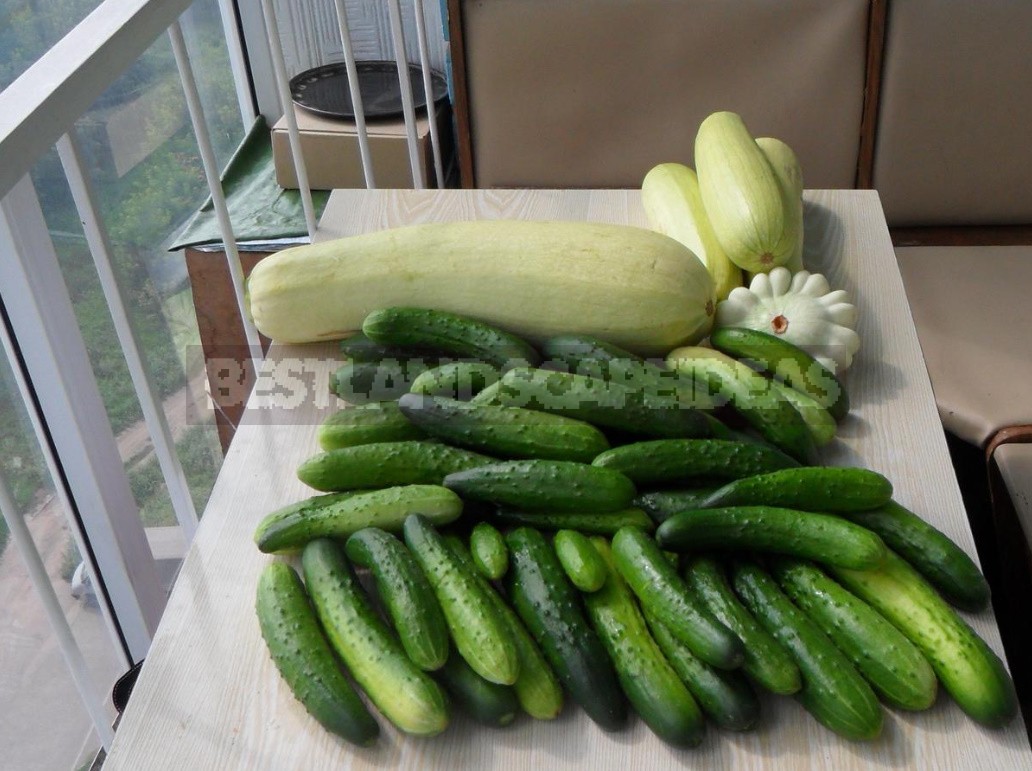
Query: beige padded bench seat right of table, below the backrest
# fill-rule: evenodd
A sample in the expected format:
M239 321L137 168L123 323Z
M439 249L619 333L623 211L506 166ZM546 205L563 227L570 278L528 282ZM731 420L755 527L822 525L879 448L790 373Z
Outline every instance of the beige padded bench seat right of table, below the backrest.
M896 255L943 425L980 446L1032 423L1032 247Z

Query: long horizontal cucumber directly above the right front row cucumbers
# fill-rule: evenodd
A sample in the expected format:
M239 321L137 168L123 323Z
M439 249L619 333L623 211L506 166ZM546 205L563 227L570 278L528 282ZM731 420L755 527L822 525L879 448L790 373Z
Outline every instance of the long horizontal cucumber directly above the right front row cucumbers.
M885 545L869 529L829 514L775 506L732 506L675 514L655 539L665 549L745 549L866 570L876 568Z

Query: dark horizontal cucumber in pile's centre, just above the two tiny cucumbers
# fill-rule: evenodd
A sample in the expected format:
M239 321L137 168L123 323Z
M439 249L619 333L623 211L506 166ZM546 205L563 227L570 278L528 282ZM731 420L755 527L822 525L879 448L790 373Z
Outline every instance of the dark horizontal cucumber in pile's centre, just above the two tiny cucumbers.
M569 460L509 460L449 474L444 484L464 499L528 511L604 513L636 494L625 476Z

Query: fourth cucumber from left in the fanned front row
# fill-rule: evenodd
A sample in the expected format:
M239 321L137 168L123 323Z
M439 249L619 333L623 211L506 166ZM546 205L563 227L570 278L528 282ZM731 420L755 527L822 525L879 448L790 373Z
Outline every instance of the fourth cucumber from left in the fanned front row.
M519 675L519 656L476 571L420 515L406 519L404 531L406 545L433 587L455 649L484 679L512 685Z

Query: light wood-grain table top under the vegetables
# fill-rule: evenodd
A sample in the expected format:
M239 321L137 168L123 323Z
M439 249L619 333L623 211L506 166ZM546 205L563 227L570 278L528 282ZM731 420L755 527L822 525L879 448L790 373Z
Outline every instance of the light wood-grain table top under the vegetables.
M884 219L874 192L809 192L807 265L860 306L862 348L848 373L852 413L825 455L885 474L896 497L972 555L974 545ZM587 219L644 225L637 191L338 191L322 221L332 237L431 220ZM556 269L559 269L556 266ZM200 528L136 683L105 771L125 769L923 769L1032 768L1019 717L980 728L940 693L922 713L886 710L882 736L851 743L788 698L766 698L750 733L712 727L695 750L673 749L640 721L605 734L576 706L554 721L489 730L456 717L433 739L381 720L355 749L310 718L280 679L258 630L255 587L272 557L252 541L267 512L312 494L294 476L317 451L333 409L326 377L335 346L277 347L226 457ZM990 612L969 621L1002 654Z

